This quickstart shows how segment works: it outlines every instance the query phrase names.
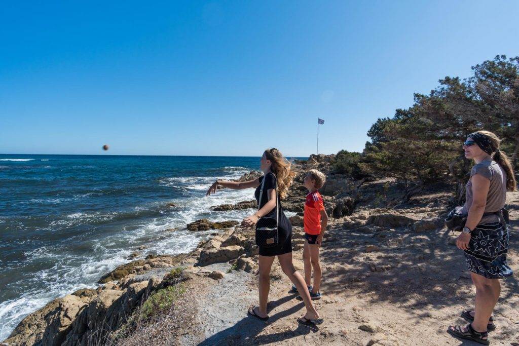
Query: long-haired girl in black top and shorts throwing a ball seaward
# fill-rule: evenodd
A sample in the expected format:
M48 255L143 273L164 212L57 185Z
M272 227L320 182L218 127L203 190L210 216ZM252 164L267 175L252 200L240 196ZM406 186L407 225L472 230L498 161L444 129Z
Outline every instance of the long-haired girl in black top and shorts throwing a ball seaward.
M292 225L281 207L281 199L288 195L288 189L292 185L295 173L290 169L290 162L276 148L264 151L260 160L260 167L264 175L259 178L248 182L217 180L207 191L207 196L215 193L218 185L230 189L256 188L254 196L258 202L258 211L243 219L241 226L244 228L254 227L258 219L264 216L276 218L276 206L279 207L278 245L275 247L260 247L259 249L260 273L258 286L260 305L249 309L248 313L262 321L268 320L267 302L270 290L270 269L277 256L281 269L297 287L297 292L305 302L306 313L298 319L298 322L303 324L321 324L323 320L319 318L319 313L313 307L305 279L295 270L292 264ZM263 182L264 180L265 182ZM261 191L261 186L263 186L263 192ZM262 196L261 200L260 196Z

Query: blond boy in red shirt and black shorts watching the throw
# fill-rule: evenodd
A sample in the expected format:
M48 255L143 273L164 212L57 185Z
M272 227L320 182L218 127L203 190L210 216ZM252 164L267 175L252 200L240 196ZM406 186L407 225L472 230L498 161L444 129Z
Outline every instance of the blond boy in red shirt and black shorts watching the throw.
M321 299L319 286L321 285L322 271L321 264L319 263L319 247L323 240L324 230L328 224L328 214L324 210L324 202L318 190L324 185L325 181L326 177L318 170L308 171L303 181L303 186L309 191L306 196L303 221L305 227L303 262L305 264L305 282L312 300ZM313 287L310 286L312 268ZM296 299L302 300L299 296Z

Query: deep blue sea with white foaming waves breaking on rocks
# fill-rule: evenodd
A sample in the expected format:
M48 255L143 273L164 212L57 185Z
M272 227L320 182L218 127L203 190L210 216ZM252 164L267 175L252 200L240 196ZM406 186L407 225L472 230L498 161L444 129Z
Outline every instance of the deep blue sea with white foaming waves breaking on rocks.
M260 157L0 154L0 340L49 301L97 287L139 247L189 252L212 231L186 224L250 215L211 207L252 189L206 191L259 169Z

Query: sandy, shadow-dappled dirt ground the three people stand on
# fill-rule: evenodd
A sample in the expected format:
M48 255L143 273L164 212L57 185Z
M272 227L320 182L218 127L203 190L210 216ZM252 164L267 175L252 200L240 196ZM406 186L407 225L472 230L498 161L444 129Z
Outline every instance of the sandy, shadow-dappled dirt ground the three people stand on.
M509 196L511 218L519 217L519 193ZM501 299L495 311L497 330L491 344L519 343L519 237L512 223L509 264L513 278L502 280ZM366 245L379 251L366 253ZM294 264L302 269L302 250ZM272 268L268 322L247 316L257 304L256 276L243 271L210 280L200 290L197 303L197 337L185 344L347 344L366 345L471 345L450 337L448 324L471 307L475 290L468 279L465 257L445 230L415 233L394 229L375 234L352 232L332 224L322 253L323 299L316 307L326 319L312 330L298 325L304 305L289 295L291 283L275 261ZM370 264L389 268L372 272ZM228 264L206 267L223 272ZM194 336L194 334L192 334Z

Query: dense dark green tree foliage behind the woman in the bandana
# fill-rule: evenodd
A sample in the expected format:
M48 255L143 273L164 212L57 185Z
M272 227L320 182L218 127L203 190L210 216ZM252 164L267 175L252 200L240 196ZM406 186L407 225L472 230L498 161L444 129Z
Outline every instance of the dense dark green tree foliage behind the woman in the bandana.
M483 129L501 137L502 151L517 167L519 57L496 56L472 71L467 79L440 79L429 94L415 94L413 106L378 119L367 132L371 141L362 155L340 151L337 170L396 177L406 186L452 179L459 195L470 168L461 145L469 133Z

